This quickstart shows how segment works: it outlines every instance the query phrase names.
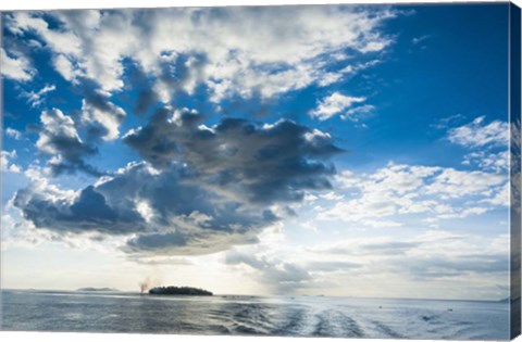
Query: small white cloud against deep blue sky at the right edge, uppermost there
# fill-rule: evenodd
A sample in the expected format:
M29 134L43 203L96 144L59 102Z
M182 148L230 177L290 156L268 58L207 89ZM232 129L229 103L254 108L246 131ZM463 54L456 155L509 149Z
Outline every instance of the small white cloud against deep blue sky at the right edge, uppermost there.
M509 125L500 121L494 121L486 125L484 121L485 116L480 116L467 125L449 129L448 140L464 148L507 148Z

